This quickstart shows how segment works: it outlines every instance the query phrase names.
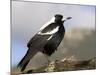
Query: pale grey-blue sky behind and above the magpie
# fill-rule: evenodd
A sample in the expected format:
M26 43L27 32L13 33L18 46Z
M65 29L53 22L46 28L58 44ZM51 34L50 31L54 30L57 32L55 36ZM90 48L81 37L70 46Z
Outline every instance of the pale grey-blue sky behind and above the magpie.
M95 29L95 6L37 2L12 2L12 64L17 64L27 51L27 42L55 14L72 17L71 28Z

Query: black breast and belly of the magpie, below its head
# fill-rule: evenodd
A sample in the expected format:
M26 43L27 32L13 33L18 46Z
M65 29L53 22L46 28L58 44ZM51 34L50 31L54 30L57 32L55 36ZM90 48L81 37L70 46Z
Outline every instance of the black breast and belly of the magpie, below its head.
M65 29L64 29L64 26L61 25L59 27L58 32L53 34L52 38L44 46L43 53L47 54L48 56L52 55L52 53L54 53L55 50L57 50L57 47L61 43L61 41L64 37L64 34L65 34Z

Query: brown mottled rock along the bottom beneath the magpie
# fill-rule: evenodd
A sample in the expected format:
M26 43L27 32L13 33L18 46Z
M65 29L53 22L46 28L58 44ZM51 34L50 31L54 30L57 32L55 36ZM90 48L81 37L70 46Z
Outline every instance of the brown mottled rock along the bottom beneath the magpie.
M72 58L72 57L71 57ZM49 63L49 65L39 69L27 71L25 73L40 73L40 72L58 72L58 71L72 71L72 70L89 70L95 69L96 58L87 61L77 61L76 59L62 59Z

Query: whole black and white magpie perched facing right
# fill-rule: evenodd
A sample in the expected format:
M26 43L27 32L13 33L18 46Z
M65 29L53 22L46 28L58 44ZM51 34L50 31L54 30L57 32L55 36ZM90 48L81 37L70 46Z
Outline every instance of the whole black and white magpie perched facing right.
M40 51L47 56L51 56L57 50L65 34L63 24L69 19L71 17L63 20L62 15L56 14L50 22L40 28L39 32L28 42L28 51L18 64L21 71L25 70L29 61L37 52Z

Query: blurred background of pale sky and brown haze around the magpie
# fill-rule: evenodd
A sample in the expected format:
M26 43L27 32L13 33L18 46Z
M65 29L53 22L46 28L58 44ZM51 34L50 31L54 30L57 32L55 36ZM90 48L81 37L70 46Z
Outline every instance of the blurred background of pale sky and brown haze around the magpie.
M70 16L72 19L64 23L65 37L58 51L50 57L51 61L64 57L88 60L96 56L95 6L27 1L12 1L11 4L12 67L26 54L28 41L55 14L62 14L64 18ZM47 61L43 54L38 53L29 65L39 67L45 62Z

